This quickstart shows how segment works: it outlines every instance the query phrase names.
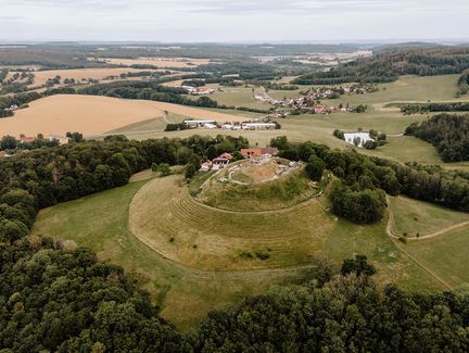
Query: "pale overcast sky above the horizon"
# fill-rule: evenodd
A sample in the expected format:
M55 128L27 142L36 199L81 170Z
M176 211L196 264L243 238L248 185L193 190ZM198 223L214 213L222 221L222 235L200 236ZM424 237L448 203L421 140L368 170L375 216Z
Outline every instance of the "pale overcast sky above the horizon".
M0 0L0 40L469 37L469 0Z

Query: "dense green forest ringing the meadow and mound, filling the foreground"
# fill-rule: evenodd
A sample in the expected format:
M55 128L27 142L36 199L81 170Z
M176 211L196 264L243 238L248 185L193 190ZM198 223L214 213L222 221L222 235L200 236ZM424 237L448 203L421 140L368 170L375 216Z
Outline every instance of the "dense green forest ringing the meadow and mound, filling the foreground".
M212 312L198 329L182 335L159 316L121 267L88 250L28 236L41 207L125 185L152 164L191 165L210 153L246 146L243 138L221 136L141 142L113 136L0 160L2 352L468 351L468 297L380 289L364 256L345 261L340 273L324 264L304 285L275 288ZM382 188L469 207L467 176L286 138L272 146L320 164L316 172L326 166L347 188Z

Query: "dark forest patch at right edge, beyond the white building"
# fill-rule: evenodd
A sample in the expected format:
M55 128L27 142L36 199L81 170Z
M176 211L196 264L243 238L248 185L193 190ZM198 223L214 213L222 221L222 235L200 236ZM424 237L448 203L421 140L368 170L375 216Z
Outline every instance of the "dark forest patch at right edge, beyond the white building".
M444 162L469 161L469 114L439 114L413 123L405 134L432 143Z

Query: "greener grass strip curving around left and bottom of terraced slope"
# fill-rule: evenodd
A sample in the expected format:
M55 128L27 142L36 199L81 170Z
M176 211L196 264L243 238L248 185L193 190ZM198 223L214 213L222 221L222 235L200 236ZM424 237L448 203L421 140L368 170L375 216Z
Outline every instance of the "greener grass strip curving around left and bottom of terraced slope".
M128 230L130 201L145 182L131 182L42 210L33 234L71 240L92 249L101 260L119 264L151 293L162 316L182 330L193 328L210 310L303 277L303 269L210 273L165 260Z

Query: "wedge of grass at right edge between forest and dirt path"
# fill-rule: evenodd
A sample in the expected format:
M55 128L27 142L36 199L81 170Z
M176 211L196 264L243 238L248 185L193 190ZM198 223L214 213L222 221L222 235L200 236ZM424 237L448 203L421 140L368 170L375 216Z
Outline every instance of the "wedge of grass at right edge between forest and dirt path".
M394 232L408 237L427 236L469 220L469 214L405 197L391 198Z

